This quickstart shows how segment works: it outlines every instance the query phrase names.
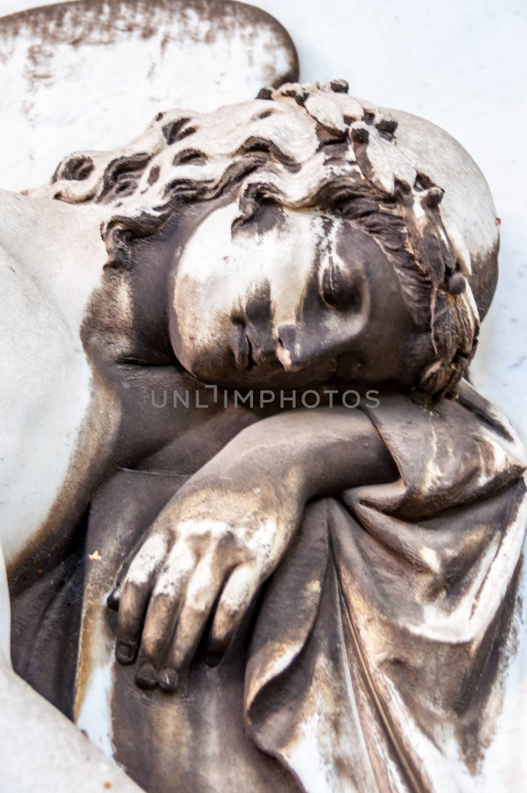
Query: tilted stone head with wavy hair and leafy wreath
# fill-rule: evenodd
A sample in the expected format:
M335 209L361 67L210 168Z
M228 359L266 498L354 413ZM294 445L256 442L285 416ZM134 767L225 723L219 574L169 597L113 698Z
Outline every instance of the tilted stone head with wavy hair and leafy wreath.
M497 235L483 251L465 238L494 224L491 203L459 228L419 159L422 134L412 148L393 116L346 91L286 85L214 113L160 114L118 155L65 159L46 188L112 205L109 266L133 269L140 238L167 257L171 345L198 379L337 378L432 397L463 376ZM459 205L459 186L452 195Z

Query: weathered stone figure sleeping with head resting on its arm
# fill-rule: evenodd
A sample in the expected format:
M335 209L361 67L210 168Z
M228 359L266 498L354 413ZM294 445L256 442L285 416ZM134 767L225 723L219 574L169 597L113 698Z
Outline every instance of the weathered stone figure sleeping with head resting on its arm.
M525 451L464 379L494 207L347 91L1 196L13 668L145 791L521 789Z

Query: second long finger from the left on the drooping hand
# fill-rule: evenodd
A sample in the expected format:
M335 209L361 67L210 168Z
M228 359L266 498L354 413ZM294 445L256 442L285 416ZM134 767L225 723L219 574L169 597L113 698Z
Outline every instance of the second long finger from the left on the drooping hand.
M157 684L157 670L167 655L187 581L195 567L195 554L181 542L172 548L161 569L144 619L141 663L136 677L142 688L154 688Z

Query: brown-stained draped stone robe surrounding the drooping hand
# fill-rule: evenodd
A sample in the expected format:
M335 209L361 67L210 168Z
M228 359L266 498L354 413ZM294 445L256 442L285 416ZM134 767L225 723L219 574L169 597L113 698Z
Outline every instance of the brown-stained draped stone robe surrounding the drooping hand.
M63 565L60 586L13 603L18 671L145 790L522 787L525 450L467 384L430 408L400 395L364 411L398 478L307 504L224 661L207 667L200 646L175 694L140 691L113 661L105 602L183 477L117 474L91 505L81 572Z

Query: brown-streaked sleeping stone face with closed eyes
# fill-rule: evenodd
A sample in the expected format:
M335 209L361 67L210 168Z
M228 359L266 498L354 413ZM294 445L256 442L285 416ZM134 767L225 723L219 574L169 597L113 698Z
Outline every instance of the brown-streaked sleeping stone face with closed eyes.
M175 266L171 343L198 379L306 385L399 379L414 324L383 248L350 220L213 209ZM407 362L406 362L407 364Z

